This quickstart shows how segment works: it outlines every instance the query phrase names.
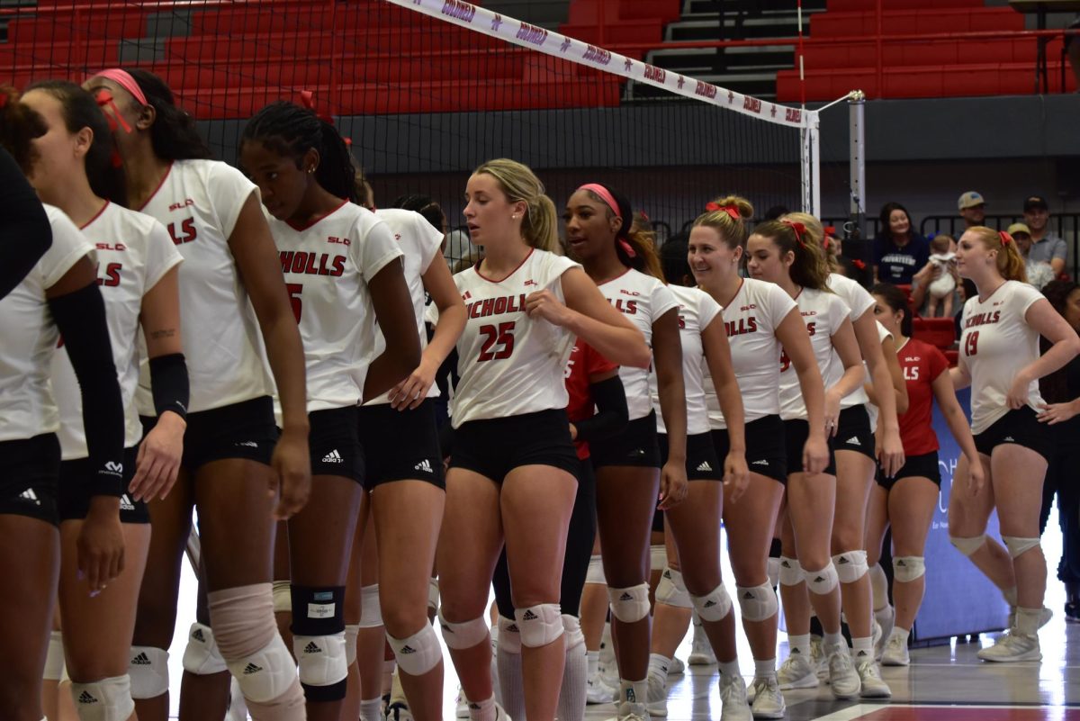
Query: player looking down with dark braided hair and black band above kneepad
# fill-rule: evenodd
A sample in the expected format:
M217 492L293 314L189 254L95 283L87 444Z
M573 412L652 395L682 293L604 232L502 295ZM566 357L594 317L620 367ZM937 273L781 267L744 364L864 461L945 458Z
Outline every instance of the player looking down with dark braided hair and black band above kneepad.
M402 250L355 203L352 160L332 123L279 100L248 121L240 159L273 217L306 349L314 487L288 520L293 650L307 718L336 721L348 676L345 584L363 498L357 406L417 366L416 318ZM426 599L427 579L423 590Z

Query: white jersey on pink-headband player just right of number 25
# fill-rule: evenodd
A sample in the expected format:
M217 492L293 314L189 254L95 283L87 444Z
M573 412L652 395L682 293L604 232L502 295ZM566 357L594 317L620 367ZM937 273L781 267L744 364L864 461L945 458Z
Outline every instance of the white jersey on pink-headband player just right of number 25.
M645 334L645 343L652 349L652 324L664 313L678 308L675 296L663 283L633 268L598 286L615 309ZM650 366L651 368L651 366ZM619 378L626 392L630 420L645 418L652 410L649 393L650 368L619 367Z

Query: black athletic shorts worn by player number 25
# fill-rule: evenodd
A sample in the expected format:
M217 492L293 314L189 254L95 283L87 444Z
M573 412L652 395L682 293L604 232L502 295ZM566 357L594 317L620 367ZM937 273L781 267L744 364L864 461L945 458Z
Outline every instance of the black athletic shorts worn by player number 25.
M454 431L451 468L468 468L501 484L523 465L550 465L577 477L578 454L566 410L468 421Z

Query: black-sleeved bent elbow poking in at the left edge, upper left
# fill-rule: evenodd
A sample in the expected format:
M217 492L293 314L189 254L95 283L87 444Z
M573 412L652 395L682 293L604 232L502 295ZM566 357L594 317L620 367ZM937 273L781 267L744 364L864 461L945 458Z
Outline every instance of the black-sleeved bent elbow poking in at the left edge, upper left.
M53 244L49 217L33 188L0 148L0 298L18 285Z

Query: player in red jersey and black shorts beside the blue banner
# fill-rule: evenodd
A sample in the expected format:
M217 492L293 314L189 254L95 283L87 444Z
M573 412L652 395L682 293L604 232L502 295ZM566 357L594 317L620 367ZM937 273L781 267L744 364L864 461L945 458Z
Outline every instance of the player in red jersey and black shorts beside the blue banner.
M933 345L912 338L910 310L903 290L879 283L872 293L876 302L875 317L896 339L910 405L900 417L907 460L892 476L879 473L877 486L870 492L866 521L867 562L877 563L886 529L892 527L892 595L896 606L892 629L882 647L881 664L907 666L910 663L907 638L926 587L927 534L937 511L942 485L937 436L932 427L934 398L971 470L968 482L978 487L984 479L968 418L956 399L948 375L948 360Z

